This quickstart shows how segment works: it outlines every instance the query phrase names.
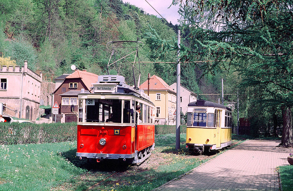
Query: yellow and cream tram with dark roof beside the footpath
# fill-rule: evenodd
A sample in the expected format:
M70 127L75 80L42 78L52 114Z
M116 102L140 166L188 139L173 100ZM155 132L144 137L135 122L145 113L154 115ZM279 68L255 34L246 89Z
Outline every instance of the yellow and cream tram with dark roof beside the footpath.
M186 148L202 154L231 145L232 110L224 105L197 100L188 104Z

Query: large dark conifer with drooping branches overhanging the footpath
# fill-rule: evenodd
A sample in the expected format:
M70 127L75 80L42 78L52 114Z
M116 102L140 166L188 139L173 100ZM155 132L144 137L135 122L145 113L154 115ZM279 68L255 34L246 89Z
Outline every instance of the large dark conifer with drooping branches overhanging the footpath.
M243 85L267 95L257 101L281 108L282 143L293 146L293 1L173 0L173 4L180 4L182 25L188 28L189 45L181 59L217 60L202 66L206 73L237 67ZM229 65L221 62L228 58Z

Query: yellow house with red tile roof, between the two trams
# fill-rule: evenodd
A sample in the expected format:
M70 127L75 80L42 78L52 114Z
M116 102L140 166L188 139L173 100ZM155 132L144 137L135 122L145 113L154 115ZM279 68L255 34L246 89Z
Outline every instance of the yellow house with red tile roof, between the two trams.
M140 89L146 94L149 91L150 100L156 106L155 124L176 125L176 92L156 75L143 82Z

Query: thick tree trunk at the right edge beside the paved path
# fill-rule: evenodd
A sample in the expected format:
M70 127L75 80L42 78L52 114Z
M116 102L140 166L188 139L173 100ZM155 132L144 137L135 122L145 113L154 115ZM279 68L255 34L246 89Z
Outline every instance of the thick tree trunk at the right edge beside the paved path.
M282 145L286 147L291 147L293 146L291 107L282 106L281 109L283 117Z

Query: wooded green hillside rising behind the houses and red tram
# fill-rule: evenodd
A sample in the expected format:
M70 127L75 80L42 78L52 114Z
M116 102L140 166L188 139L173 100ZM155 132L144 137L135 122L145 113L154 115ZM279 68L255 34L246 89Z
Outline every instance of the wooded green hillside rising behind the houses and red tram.
M176 44L178 26L121 0L0 0L0 8L0 52L2 60L6 59L2 65L8 58L12 61L6 65L22 66L28 60L29 68L42 71L46 81L70 73L72 64L106 74L109 41L142 41L139 54L144 62L177 61L176 50L162 54L164 46L155 43L152 35ZM184 64L181 71L182 85L195 93L200 92L198 82L205 93L220 90L218 81L211 87L213 78L198 81L202 72L195 65ZM173 63L142 64L141 72L141 82L147 79L147 73L160 76L170 85L176 81ZM121 74L127 73L126 69Z

